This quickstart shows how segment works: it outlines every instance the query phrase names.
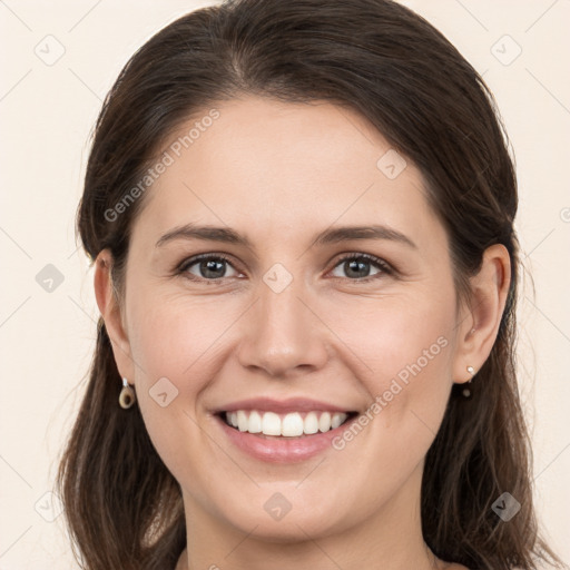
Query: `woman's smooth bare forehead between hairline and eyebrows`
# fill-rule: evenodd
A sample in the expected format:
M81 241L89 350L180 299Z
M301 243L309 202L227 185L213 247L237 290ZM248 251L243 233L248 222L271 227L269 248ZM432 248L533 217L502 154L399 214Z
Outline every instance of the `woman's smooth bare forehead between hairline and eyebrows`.
M419 242L438 229L416 167L331 102L224 101L180 125L163 153L169 166L140 216L157 232L197 220L267 237L383 223Z

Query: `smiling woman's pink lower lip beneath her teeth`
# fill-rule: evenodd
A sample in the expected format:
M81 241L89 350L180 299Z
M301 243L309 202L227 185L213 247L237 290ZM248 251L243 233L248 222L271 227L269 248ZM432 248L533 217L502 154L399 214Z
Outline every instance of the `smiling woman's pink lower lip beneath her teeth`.
M230 428L219 415L216 420L229 441L245 453L267 463L295 463L318 455L332 448L332 440L346 430L356 420L352 417L334 430L299 438L276 438L240 432Z

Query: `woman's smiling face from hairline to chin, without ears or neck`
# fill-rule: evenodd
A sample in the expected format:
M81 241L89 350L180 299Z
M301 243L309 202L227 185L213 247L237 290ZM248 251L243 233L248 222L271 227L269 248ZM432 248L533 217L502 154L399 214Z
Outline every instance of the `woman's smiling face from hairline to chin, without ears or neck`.
M459 334L419 170L328 102L216 108L144 198L116 351L189 517L293 540L415 504Z

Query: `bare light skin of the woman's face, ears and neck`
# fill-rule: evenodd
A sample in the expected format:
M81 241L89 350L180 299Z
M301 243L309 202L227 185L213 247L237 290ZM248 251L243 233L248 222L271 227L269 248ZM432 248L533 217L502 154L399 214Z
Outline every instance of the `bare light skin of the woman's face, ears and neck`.
M485 252L471 279L473 308L456 311L448 237L422 176L409 160L389 179L376 163L390 144L364 118L328 102L255 97L217 109L144 198L125 298L112 294L108 250L95 275L118 370L183 490L188 549L177 569L464 568L435 559L423 541L421 478L452 384L471 379L466 366L479 370L497 337L507 249ZM156 246L188 222L229 226L252 249L197 239ZM416 248L386 239L312 245L330 226L372 224ZM199 263L173 275L202 253L229 256L226 276L208 284ZM397 273L371 264L375 278L363 283L338 262L351 253ZM293 277L278 294L263 281L276 263ZM245 397L297 395L364 412L442 336L445 347L343 450L267 464L237 450L212 415ZM149 395L161 377L178 390L166 407ZM264 510L276 492L292 504L279 521Z

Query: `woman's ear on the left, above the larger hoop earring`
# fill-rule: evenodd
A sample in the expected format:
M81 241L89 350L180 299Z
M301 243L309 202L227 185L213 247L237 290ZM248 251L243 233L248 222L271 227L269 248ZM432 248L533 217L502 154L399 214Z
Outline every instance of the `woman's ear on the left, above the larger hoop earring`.
M129 384L132 384L135 366L119 298L111 279L111 267L112 255L109 249L102 249L95 261L95 297L111 341L112 354L119 374L121 377L126 377Z

